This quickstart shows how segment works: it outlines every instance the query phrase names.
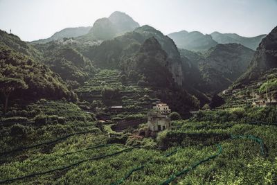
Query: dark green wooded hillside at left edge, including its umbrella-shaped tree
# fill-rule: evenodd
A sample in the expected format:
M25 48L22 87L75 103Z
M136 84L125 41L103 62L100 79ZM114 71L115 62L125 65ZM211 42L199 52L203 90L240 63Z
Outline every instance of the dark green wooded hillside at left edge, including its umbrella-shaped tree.
M8 107L8 98L35 100L39 98L67 98L75 100L62 79L48 67L32 58L0 46L0 92L4 96L4 112ZM15 91L16 89L16 91Z

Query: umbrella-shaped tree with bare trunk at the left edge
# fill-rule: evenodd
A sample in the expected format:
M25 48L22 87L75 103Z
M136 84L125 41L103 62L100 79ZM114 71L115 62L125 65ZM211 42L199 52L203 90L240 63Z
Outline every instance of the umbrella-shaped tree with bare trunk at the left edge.
M21 80L19 78L6 78L1 77L0 78L0 92L5 97L5 104L4 104L4 114L6 114L8 109L8 98L10 97L10 94L12 91L15 91L15 89L27 89L28 85L24 82L24 80Z

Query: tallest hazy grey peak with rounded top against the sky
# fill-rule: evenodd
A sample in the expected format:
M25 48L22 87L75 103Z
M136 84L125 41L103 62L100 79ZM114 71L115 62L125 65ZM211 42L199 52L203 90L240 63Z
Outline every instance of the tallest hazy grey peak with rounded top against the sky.
M113 12L108 18L97 19L89 33L78 37L81 42L108 40L138 28L139 24L124 12Z

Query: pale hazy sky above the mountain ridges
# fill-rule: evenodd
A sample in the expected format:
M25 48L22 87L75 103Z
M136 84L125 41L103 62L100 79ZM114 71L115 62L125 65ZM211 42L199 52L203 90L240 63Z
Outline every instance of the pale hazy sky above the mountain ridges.
M250 37L277 26L277 0L0 0L0 29L31 41L92 26L116 10L164 34L216 30Z

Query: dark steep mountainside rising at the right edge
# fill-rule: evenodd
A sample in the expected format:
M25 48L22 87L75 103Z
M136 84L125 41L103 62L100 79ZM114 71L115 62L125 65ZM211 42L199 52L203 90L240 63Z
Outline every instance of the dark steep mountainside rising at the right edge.
M258 46L253 55L249 69L235 84L235 87L243 87L265 75L267 71L277 68L277 26L271 30Z

